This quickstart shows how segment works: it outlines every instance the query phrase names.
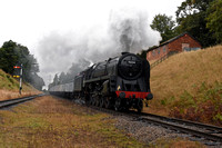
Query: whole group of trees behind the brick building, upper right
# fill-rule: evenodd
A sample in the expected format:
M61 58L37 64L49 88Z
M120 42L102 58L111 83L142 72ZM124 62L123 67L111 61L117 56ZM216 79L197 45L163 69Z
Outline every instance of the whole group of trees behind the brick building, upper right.
M175 12L176 23L172 17L157 14L151 28L161 33L162 41L189 32L200 41L202 47L222 42L222 1L184 0Z

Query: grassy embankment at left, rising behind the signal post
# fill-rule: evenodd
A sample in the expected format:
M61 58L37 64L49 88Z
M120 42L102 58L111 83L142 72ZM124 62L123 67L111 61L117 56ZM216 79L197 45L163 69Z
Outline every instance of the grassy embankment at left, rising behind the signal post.
M13 99L40 93L30 85L22 85L22 95L19 93L19 81L0 69L0 100Z

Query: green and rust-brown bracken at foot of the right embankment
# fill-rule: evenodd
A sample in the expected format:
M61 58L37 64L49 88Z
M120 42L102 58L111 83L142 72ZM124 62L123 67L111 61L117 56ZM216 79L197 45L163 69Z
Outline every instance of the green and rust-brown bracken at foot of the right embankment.
M203 82L195 88L195 93L188 91L181 95L173 103L171 115L194 121L222 124L222 82L215 81L213 86Z

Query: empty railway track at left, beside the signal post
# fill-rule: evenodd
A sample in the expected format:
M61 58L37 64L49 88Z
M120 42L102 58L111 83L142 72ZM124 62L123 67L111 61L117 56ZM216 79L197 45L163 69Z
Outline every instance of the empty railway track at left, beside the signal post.
M17 98L17 99L9 99L9 100L3 100L0 101L0 109L6 108L6 107L10 107L17 103L21 103L31 99L34 99L37 97L42 97L46 96L44 93L41 95L34 95L34 96L29 96L29 97L23 97L23 98Z

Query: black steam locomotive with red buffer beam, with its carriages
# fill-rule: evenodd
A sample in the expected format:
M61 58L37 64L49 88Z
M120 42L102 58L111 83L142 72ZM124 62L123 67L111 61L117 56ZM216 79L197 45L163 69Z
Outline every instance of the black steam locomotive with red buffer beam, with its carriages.
M143 109L153 98L150 91L150 63L140 57L121 56L98 62L75 76L74 80L49 88L50 93L115 110Z

